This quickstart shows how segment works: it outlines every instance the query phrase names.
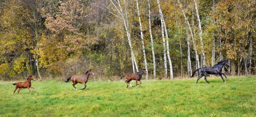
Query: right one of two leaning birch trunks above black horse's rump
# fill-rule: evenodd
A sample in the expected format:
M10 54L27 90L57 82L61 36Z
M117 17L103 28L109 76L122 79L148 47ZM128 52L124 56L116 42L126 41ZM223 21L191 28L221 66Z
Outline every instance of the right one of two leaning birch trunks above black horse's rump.
M195 10L196 10L196 14L197 14L197 20L198 20L198 28L199 28L199 39L200 39L200 43L201 43L201 49L202 49L202 57L203 57L203 66L205 66L205 53L204 53L204 43L203 43L203 33L202 33L202 26L201 26L201 21L200 21L200 17L199 17L199 13L198 13L198 9L197 9L197 4L196 4L196 0L194 0L195 2Z

